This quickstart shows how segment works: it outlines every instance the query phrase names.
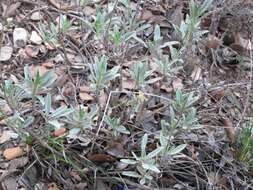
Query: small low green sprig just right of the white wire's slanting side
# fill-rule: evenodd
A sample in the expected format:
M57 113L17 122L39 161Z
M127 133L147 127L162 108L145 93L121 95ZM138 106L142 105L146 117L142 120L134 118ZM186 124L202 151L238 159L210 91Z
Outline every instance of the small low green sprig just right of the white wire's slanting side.
M119 133L130 134L130 132L123 125L121 125L119 118L107 116L105 117L105 122L112 130L112 135L114 137L119 136Z

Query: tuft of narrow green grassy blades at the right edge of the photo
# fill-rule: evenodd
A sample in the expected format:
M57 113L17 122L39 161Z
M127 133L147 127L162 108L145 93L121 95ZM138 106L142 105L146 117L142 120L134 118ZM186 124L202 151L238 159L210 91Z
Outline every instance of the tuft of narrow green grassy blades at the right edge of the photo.
M237 137L238 160L253 167L253 120L245 126Z

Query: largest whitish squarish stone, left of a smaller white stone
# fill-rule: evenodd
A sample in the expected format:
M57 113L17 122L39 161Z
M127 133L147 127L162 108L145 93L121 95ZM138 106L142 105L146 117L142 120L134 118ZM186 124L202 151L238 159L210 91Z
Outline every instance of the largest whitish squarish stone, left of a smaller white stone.
M13 32L13 42L15 47L24 47L28 39L28 33L24 28L15 28Z

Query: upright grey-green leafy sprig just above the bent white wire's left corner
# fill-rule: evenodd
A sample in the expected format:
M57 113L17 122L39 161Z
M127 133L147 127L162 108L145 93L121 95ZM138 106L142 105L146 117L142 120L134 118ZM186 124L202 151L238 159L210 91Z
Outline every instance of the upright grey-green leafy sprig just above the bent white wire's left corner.
M95 64L90 64L90 76L92 89L99 94L99 92L108 87L109 82L119 76L119 66L107 70L107 58L102 56L100 59L95 57Z

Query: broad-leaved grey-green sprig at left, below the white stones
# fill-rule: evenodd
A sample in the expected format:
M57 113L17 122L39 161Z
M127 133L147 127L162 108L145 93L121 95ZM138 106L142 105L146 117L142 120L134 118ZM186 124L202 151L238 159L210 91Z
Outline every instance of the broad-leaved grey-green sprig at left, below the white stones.
M47 89L56 79L52 70L47 71L43 75L41 75L37 70L33 79L28 66L25 66L24 68L24 75L25 79L22 87L32 98L38 95L41 91Z

